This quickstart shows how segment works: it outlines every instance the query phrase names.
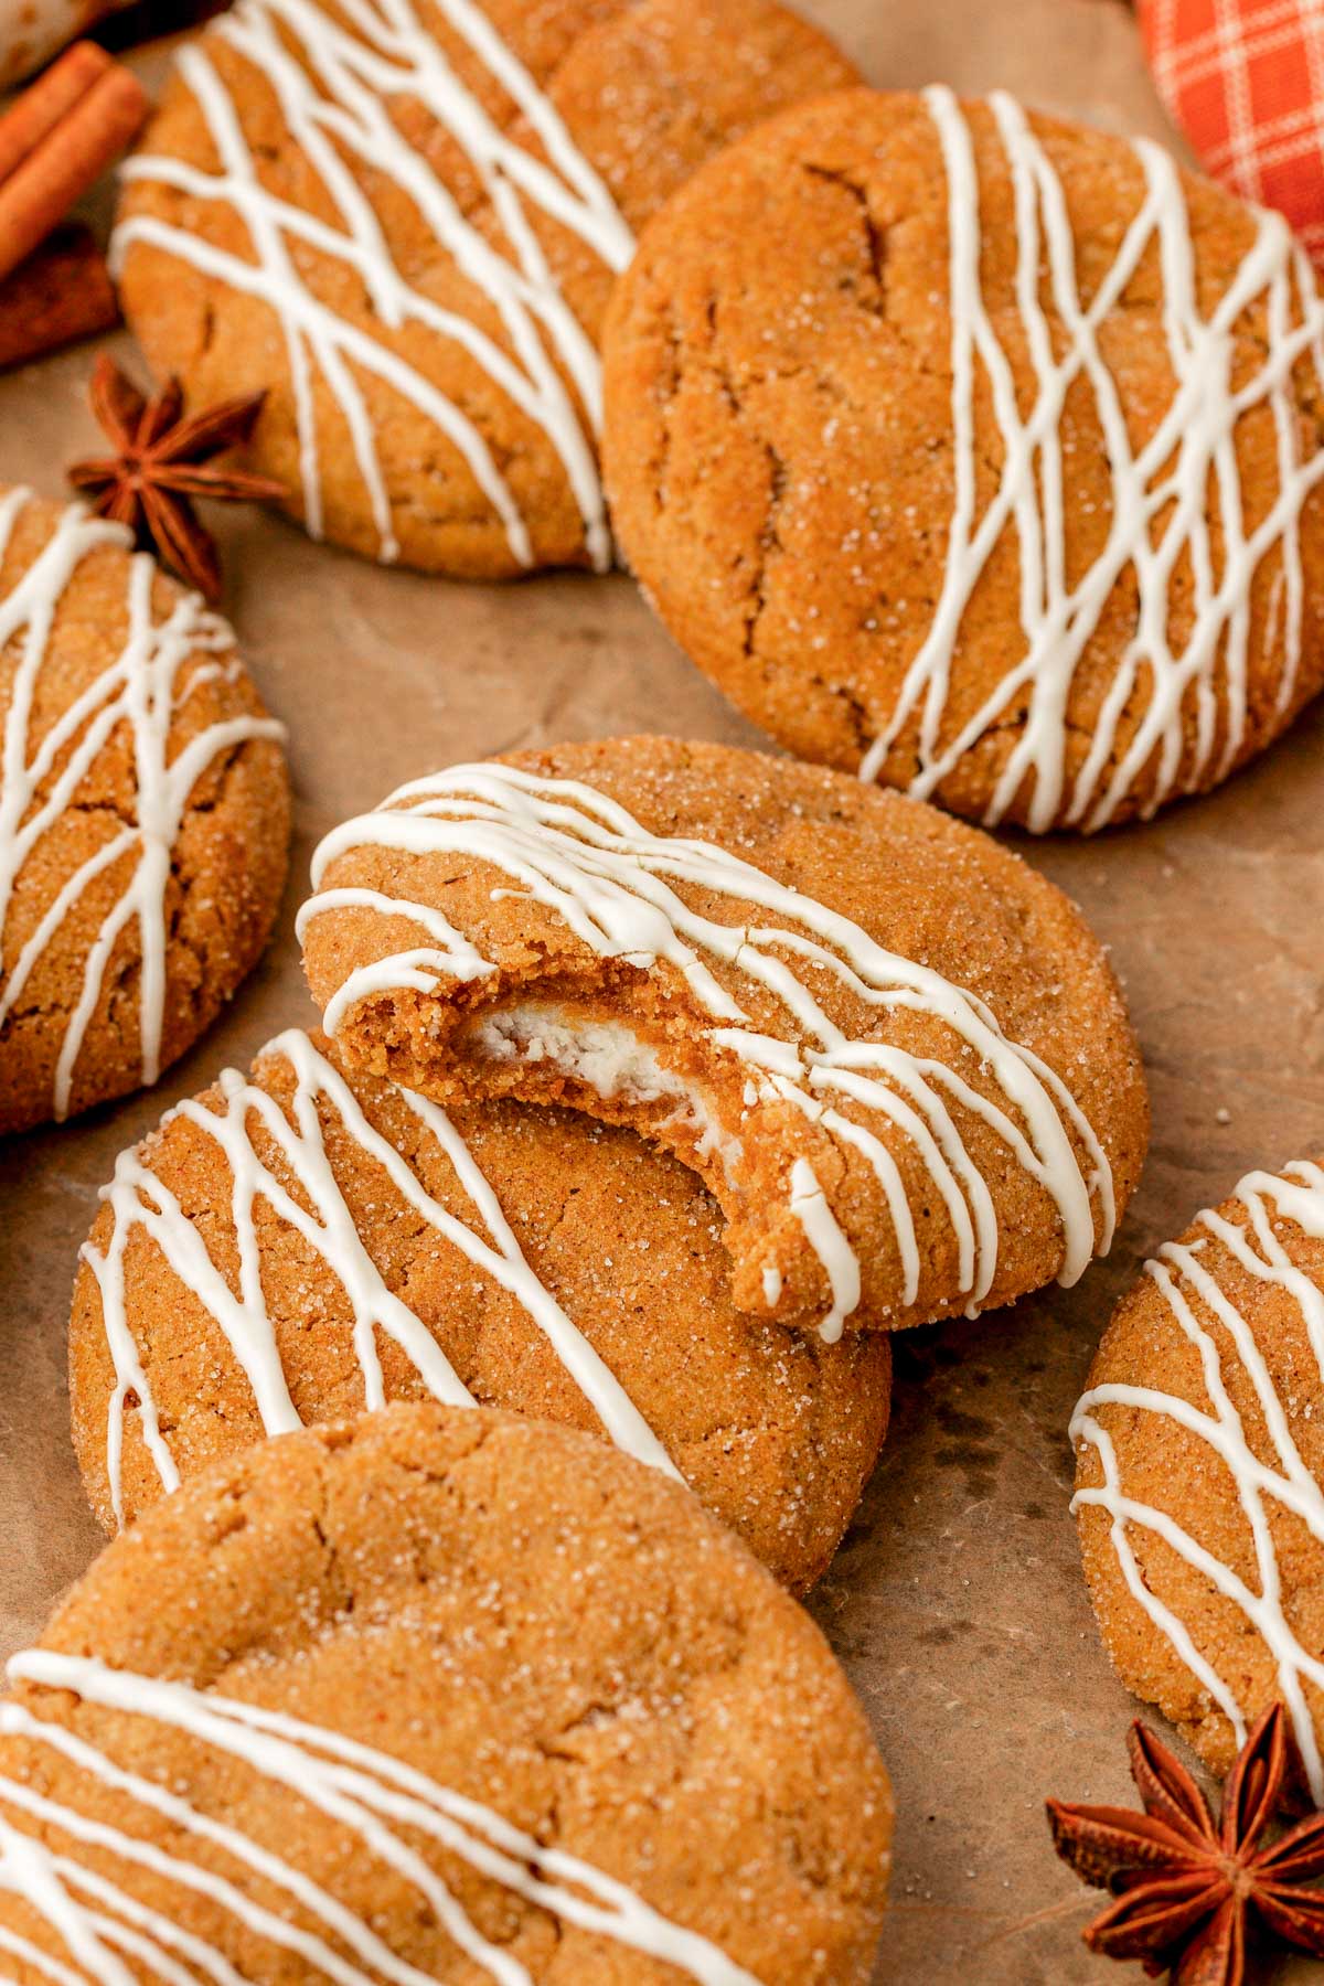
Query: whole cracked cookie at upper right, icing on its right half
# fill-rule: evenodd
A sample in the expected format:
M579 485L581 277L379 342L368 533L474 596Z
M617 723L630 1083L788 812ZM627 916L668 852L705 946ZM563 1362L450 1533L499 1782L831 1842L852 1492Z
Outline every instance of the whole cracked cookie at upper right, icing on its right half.
M649 224L613 298L621 548L806 759L1100 828L1324 683L1310 264L1147 141L852 91Z

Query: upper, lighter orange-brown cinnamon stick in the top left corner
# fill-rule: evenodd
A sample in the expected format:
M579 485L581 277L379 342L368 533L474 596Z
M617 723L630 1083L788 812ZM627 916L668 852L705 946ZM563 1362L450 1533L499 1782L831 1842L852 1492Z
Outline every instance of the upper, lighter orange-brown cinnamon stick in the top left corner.
M75 71L66 68L87 44L75 44L56 70L66 70L60 89L71 87ZM99 52L97 52L99 54ZM54 71L52 71L54 73ZM79 56L83 79L87 58ZM48 77L28 95L44 89ZM58 91L52 85L50 101ZM22 103L10 111L14 117ZM137 137L149 109L149 97L139 79L117 62L99 68L91 87L48 125L46 135L0 181L0 280L38 248L73 203L101 177ZM36 123L50 115L38 107ZM2 131L0 131L2 137Z

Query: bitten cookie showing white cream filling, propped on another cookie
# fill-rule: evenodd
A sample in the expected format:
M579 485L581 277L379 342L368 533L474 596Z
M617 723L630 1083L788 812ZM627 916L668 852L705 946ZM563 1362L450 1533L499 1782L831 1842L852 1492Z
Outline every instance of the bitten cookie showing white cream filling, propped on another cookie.
M453 767L335 828L314 890L347 1066L659 1140L752 1315L832 1339L1074 1281L1135 1184L1143 1074L1078 912L838 773L655 737Z

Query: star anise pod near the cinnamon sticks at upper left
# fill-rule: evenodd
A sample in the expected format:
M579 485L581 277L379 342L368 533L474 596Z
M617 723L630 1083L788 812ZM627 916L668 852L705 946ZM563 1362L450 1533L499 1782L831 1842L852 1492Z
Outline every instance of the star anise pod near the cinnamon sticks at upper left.
M155 548L206 600L216 600L220 558L193 498L246 502L286 495L270 477L212 463L248 441L266 393L222 399L185 419L179 379L147 399L103 352L87 397L115 453L73 463L69 483L91 498L99 516L127 524L139 544Z

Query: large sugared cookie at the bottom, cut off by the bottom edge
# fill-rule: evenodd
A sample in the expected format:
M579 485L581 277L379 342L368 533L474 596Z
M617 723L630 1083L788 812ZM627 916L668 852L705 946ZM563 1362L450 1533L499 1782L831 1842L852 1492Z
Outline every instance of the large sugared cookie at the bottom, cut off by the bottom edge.
M891 1795L846 1676L695 1497L568 1428L395 1406L250 1448L10 1682L22 1986L869 1978Z

